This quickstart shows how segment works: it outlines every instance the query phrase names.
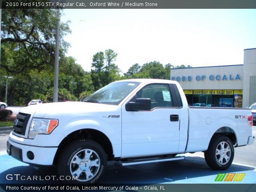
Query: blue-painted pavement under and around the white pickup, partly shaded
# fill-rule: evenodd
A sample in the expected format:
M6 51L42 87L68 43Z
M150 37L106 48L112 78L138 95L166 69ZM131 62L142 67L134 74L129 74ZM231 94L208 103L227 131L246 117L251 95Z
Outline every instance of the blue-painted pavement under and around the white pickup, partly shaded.
M43 180L46 176L56 176L54 168L36 170L26 163L20 162L6 152L0 152L0 183L5 184L31 184L31 183L62 183L60 180ZM107 170L100 180L101 184L225 184L225 181L214 181L221 173L244 173L239 184L254 184L256 182L256 167L233 163L228 170L217 171L210 169L204 158L197 154L186 154L186 160L144 164L137 166L116 167L110 162ZM12 174L13 180L7 180L6 175ZM16 180L14 174L25 176L38 176L41 180ZM10 179L10 178L9 178ZM218 185L222 186L222 185Z

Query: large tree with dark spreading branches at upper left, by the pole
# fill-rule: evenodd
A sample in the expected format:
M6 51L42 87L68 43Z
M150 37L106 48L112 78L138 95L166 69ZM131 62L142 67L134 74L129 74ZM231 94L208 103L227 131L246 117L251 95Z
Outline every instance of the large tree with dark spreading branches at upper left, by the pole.
M53 86L57 19L52 9L2 10L0 76L13 77L9 80L8 104L45 100ZM69 32L68 22L60 23L61 58L69 46L63 37ZM5 87L0 90L2 99Z

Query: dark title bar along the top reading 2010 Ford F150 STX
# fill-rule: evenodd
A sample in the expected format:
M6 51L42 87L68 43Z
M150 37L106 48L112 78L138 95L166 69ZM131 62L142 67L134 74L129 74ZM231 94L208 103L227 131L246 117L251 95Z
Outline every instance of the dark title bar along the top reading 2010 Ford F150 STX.
M2 9L255 9L256 0L2 0Z

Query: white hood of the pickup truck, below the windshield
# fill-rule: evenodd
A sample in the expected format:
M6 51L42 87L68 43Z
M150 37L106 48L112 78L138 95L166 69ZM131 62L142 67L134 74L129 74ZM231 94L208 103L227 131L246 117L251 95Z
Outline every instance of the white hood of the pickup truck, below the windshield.
M92 116L99 112L114 112L118 106L89 102L56 102L24 107L21 113L31 114L34 118L58 118L60 116Z

